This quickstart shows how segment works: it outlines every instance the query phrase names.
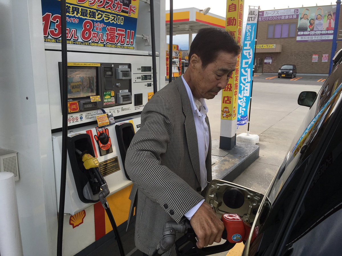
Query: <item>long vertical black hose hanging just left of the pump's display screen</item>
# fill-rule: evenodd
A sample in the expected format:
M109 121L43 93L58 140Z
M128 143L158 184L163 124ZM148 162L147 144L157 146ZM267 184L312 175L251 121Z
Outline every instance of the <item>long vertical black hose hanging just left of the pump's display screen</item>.
M68 135L68 108L67 108L67 41L66 41L66 0L61 0L61 35L62 35L62 163L60 205L58 210L57 229L57 256L62 256L64 204L66 186L66 160L67 160L67 135Z

